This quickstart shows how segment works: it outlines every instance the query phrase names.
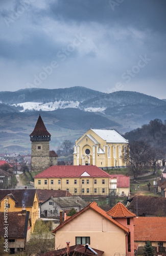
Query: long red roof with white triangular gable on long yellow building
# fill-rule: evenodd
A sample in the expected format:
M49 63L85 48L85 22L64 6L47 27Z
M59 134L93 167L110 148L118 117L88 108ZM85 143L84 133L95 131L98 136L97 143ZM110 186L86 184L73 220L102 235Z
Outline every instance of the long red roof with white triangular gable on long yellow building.
M86 175L86 173L87 175ZM85 174L84 174L85 173ZM56 178L56 177L106 177L110 175L95 165L53 165L34 178Z

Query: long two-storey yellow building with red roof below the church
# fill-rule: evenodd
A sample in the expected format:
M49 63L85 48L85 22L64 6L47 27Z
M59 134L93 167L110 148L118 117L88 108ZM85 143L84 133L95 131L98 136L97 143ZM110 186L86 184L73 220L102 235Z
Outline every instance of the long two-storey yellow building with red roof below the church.
M110 175L95 165L53 165L34 177L37 189L67 190L75 196L107 196Z

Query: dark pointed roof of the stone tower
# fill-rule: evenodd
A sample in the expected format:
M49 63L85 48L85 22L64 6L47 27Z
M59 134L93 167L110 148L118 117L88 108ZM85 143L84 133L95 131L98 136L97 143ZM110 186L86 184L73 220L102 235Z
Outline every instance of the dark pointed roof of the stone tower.
M30 136L51 136L51 134L46 130L40 115L35 125L35 128Z

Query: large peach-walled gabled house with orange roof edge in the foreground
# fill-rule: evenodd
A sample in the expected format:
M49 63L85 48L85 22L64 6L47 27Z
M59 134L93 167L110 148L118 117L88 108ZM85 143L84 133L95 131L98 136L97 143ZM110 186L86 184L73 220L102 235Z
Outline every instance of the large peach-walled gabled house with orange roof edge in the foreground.
M124 215L119 218L124 218ZM70 241L70 246L88 244L91 248L104 251L105 256L113 256L115 253L134 254L133 248L130 247L133 241L129 228L109 216L96 202L88 204L65 220L53 234L55 249L64 248L66 241Z

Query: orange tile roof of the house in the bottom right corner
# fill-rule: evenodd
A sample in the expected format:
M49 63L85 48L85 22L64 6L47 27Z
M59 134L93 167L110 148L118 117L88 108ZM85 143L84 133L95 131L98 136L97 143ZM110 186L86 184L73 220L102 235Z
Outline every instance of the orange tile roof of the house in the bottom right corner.
M165 217L134 218L134 241L166 241Z

